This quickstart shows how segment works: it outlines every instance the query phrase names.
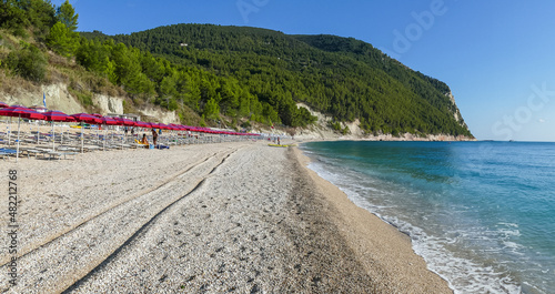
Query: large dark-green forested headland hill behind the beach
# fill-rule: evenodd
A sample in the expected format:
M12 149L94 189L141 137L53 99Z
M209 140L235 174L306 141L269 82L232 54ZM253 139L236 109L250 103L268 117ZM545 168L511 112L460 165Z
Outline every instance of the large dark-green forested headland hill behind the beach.
M458 110L445 83L352 38L211 24L82 36L123 42L172 63L232 79L275 109L279 122L287 125L306 123L286 111L292 102L304 102L337 121L359 119L367 132L470 135L462 118L455 120Z

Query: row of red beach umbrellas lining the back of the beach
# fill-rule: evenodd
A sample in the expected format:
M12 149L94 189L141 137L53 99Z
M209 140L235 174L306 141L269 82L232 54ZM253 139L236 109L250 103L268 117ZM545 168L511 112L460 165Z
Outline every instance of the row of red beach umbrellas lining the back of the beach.
M52 149L54 148L54 122L80 122L80 123L89 123L89 124L98 124L98 125L122 125L122 126L138 126L138 128L149 128L149 129L162 129L162 130L171 130L171 131L190 131L190 132L202 132L202 133L211 133L211 134L224 134L224 135L260 135L253 133L238 133L238 132L229 132L229 131L220 131L212 130L209 128L200 128L200 126L190 126L182 124L164 124L164 123L153 123L153 122L142 122L142 121L133 121L124 118L111 118L111 116L102 116L101 114L93 113L75 113L75 114L65 114L61 111L48 111L48 112L37 112L32 109L22 107L22 105L8 105L4 102L0 102L0 115L18 118L18 146L17 146L17 158L19 158L19 133L20 133L20 122L21 119L28 120L43 120L52 122ZM62 136L63 138L63 136ZM10 141L10 135L8 138ZM39 132L37 132L37 140L39 140ZM63 139L62 139L63 140ZM81 151L83 151L83 128L81 128Z

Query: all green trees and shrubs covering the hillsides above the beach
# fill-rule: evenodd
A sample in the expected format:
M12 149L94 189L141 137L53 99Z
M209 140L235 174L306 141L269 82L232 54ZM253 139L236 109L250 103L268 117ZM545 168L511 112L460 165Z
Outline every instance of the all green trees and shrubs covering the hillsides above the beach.
M59 73L78 97L123 92L132 105L176 111L183 123L238 126L307 126L316 118L302 102L334 122L359 120L367 133L472 135L445 83L352 38L211 24L79 33L68 1L0 7L2 74L46 83Z

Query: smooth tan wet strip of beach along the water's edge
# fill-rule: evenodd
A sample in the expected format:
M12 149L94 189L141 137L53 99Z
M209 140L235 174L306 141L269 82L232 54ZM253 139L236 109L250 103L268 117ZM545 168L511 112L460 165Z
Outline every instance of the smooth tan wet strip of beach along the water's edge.
M448 282L427 268L411 239L395 226L354 204L337 186L307 168L310 159L299 148L294 156L339 215L335 224L372 280L395 293L453 293ZM395 281L394 286L390 283Z

